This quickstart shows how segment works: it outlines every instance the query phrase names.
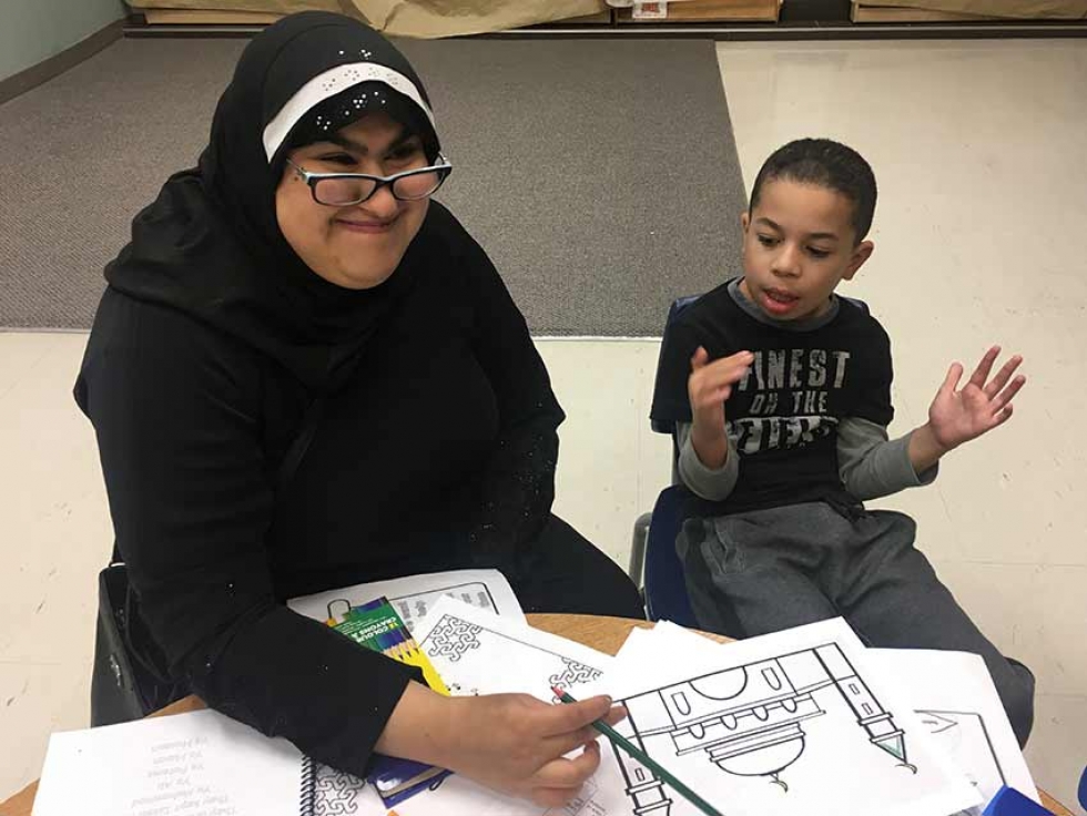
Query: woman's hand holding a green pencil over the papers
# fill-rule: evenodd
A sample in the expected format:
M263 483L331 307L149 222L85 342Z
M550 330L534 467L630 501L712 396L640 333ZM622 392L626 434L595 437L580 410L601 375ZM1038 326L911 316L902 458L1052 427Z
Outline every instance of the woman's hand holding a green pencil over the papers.
M378 751L449 768L541 807L561 807L577 797L586 779L600 765L597 744L600 733L592 722L603 720L613 725L627 715L605 696L552 705L528 694L435 695L437 701L424 701L419 691L434 694L416 683L408 684L378 742ZM417 697L419 706L413 705L410 697ZM403 706L407 706L403 711L407 716L397 722ZM424 707L433 713L424 714ZM425 745L390 744L400 742L390 737L416 720L408 708L417 708L416 713L428 720L419 722L424 731L414 735L423 737ZM565 756L577 748L583 751L571 758Z

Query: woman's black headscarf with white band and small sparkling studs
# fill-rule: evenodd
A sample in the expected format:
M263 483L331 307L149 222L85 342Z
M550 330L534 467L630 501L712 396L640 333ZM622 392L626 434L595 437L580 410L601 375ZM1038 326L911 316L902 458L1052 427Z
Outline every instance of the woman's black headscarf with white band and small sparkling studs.
M353 94L367 104L347 104ZM289 149L378 105L437 155L426 90L385 38L326 12L267 28L238 60L199 166L171 176L136 216L131 243L105 268L110 286L240 338L311 389L334 388L430 262L431 218L385 283L352 290L319 277L291 248L275 191Z

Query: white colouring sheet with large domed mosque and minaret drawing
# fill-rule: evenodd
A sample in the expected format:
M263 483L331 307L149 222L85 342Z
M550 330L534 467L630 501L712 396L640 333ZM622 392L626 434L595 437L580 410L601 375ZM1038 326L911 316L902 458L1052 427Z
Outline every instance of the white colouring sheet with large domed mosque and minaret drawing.
M632 634L573 693L623 702L619 731L729 816L947 816L981 802L841 619L723 646ZM603 756L642 806L697 813L626 754Z

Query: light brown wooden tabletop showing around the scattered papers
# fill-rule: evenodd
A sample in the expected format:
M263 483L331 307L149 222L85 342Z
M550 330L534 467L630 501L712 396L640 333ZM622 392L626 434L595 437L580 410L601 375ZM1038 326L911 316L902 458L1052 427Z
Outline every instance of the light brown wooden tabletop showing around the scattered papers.
M652 623L647 621L632 621L626 618L603 618L600 615L556 615L556 614L532 614L528 615L528 622L545 632L569 638L570 640L583 643L587 646L600 652L614 654L627 640L627 634L634 626L651 629ZM704 633L703 633L704 634ZM708 638L727 643L728 638L707 634ZM186 711L203 708L204 704L197 697L185 697L172 705L167 705L160 712L151 716L166 716L170 714L181 714ZM0 816L31 816L34 805L34 794L38 792L38 783L32 782L21 793L16 794L10 799L0 804ZM1059 802L1054 799L1045 790L1038 789L1042 796L1042 804L1052 810L1056 816L1075 816L1075 814Z

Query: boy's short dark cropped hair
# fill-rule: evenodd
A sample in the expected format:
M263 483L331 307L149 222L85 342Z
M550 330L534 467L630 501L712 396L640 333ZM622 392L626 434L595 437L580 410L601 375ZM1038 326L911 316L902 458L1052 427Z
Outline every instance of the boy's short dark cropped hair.
M779 147L755 177L749 212L753 213L759 204L762 186L779 178L841 193L853 203L852 223L856 243L868 234L875 213L875 174L852 147L830 139L798 139Z

